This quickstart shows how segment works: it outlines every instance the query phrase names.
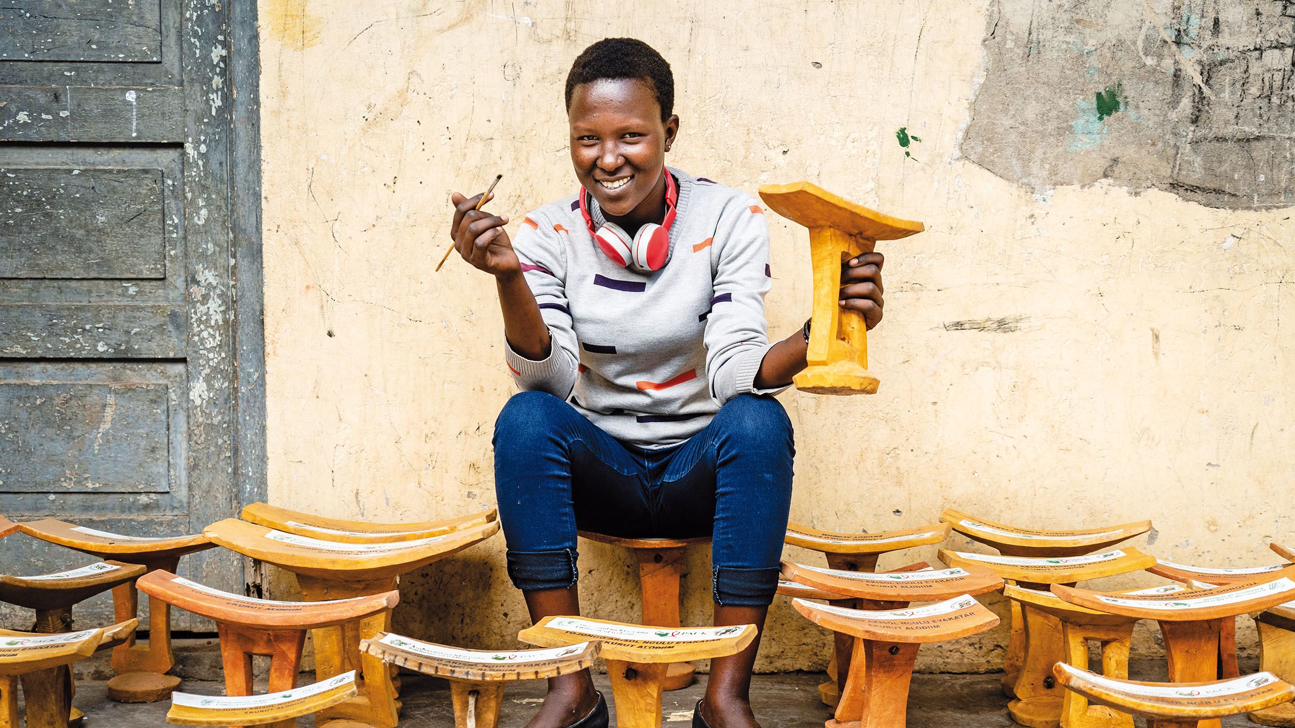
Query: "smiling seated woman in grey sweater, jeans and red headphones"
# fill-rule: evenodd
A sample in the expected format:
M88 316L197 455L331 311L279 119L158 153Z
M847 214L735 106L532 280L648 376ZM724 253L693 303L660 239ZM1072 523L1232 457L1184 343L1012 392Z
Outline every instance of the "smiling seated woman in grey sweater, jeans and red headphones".
M576 530L712 536L715 624L756 624L777 589L791 424L772 394L805 368L808 321L765 336L769 234L749 194L667 168L670 65L642 41L587 48L566 83L580 190L522 220L455 193L451 236L495 276L519 386L495 425L508 571L531 619L580 613ZM882 255L843 263L840 306L882 317ZM759 636L711 662L694 725L758 727ZM588 671L557 677L531 728L606 725Z

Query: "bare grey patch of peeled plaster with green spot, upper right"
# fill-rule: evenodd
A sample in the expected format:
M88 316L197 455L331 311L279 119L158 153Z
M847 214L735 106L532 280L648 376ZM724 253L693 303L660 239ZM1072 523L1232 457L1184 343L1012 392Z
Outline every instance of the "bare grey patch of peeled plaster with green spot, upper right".
M996 0L984 45L962 153L993 174L1295 205L1295 0Z

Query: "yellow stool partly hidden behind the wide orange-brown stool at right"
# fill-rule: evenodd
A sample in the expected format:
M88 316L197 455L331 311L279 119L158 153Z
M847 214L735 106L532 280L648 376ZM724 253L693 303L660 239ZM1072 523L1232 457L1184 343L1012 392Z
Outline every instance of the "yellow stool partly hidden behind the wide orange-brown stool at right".
M1168 584L1120 593L1168 595L1184 591L1178 584ZM1002 593L1061 620L1067 663L1087 668L1088 643L1096 641L1102 650L1102 674L1119 680L1128 677L1129 643L1137 619L1074 605L1052 592L1008 586ZM1081 694L1068 692L1062 700L1061 728L1133 728L1133 718L1105 706L1090 706Z

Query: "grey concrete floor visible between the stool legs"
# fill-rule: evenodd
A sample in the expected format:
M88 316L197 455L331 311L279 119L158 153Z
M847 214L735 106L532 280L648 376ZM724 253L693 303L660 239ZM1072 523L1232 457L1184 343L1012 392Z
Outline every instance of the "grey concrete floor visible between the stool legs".
M1163 666L1160 667L1163 670ZM1134 668L1136 677L1154 680L1155 666ZM307 676L302 676L303 681ZM611 690L606 675L594 676L607 696ZM704 676L701 681L666 693L664 725L692 725L693 706L702 697ZM816 672L786 672L756 675L752 681L752 705L765 728L817 728L830 718L829 710L818 701L817 685L824 679ZM912 728L1017 728L1008 718L1006 698L1000 692L1000 675L916 675L908 709ZM1160 677L1163 679L1163 676ZM440 680L421 675L405 675L403 681L404 709L401 728L445 728L455 724L449 706L449 690ZM207 680L185 680L189 693L223 693L223 685ZM544 683L539 680L509 685L504 696L501 728L521 728L535 712L544 696ZM166 725L168 703L127 705L107 700L102 681L83 680L76 688L76 705L85 711L85 728L144 728ZM614 711L614 706L613 706ZM614 715L614 712L613 712ZM613 725L616 724L613 716ZM1143 723L1138 720L1141 728ZM308 718L299 728L313 727ZM1225 727L1255 725L1244 716L1224 720Z

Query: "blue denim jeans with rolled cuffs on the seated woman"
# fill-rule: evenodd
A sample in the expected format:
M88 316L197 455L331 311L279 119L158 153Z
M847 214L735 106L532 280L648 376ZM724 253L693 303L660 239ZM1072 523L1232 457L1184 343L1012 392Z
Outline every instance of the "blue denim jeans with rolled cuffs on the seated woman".
M508 574L523 591L576 582L576 530L711 536L721 605L773 601L791 506L791 421L741 395L688 440L633 447L552 394L513 395L495 422L495 491Z

